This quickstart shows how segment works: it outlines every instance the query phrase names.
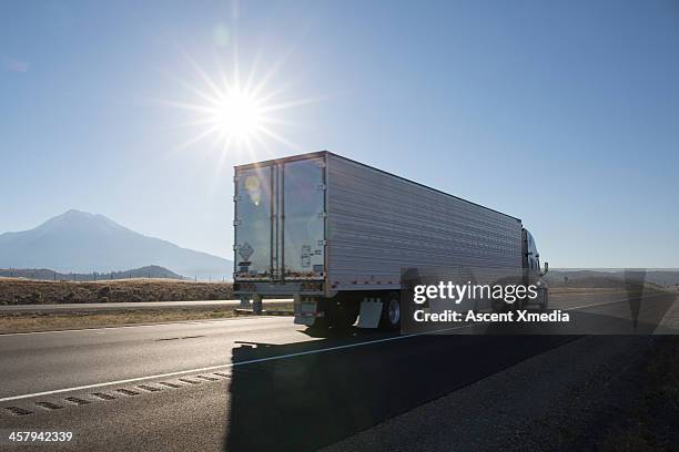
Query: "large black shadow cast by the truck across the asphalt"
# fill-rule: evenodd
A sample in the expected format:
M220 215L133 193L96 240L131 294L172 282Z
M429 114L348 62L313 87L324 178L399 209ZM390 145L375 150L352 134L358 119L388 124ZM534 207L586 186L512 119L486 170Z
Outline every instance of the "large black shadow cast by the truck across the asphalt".
M418 336L343 347L359 339L236 347L233 360L250 363L233 368L225 450L316 450L569 340ZM343 348L311 352L333 347Z

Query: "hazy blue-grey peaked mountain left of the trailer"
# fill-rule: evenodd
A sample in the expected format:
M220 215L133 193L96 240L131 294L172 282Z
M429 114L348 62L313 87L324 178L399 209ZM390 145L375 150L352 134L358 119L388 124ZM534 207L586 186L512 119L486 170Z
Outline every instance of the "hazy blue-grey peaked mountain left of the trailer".
M69 210L40 226L0 235L0 268L110 273L150 265L201 279L231 277L233 264L128 229L103 215Z

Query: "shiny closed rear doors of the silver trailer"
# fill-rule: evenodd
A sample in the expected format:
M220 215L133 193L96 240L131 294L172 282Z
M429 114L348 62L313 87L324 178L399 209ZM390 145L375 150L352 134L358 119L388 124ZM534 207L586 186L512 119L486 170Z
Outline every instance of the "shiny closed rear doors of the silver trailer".
M235 276L325 275L325 160L241 168L235 177Z

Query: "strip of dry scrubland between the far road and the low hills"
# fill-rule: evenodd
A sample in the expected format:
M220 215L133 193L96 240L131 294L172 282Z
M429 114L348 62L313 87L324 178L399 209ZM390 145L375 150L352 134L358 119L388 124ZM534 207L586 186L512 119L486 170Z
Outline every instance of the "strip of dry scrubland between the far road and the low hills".
M233 298L231 282L125 279L97 282L0 278L0 305L191 301Z

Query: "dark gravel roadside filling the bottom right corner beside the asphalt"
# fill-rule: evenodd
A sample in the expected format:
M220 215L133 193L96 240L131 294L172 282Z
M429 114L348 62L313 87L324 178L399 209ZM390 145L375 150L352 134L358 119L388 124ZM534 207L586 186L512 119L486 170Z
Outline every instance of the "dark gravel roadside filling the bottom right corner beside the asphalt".
M677 450L678 383L676 336L582 337L324 451Z

